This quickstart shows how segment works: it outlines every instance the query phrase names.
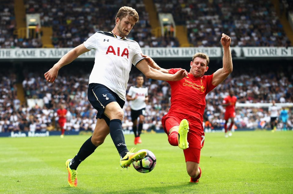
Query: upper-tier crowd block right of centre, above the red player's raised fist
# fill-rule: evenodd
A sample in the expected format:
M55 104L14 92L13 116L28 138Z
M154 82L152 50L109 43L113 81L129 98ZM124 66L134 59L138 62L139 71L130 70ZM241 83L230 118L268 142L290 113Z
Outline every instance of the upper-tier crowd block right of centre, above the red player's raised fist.
M228 34L231 46L291 46L271 1L154 0L157 12L172 13L175 23L186 25L195 47L221 46Z

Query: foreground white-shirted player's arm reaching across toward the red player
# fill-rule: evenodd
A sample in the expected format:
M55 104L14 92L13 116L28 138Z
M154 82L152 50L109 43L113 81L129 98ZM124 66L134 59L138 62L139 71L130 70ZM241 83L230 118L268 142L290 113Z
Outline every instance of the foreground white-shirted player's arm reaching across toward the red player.
M180 69L175 74L163 73L157 69L154 69L148 65L147 60L142 60L140 63L136 65L137 69L139 69L148 79L157 79L163 81L178 81L187 76L187 72L185 69Z

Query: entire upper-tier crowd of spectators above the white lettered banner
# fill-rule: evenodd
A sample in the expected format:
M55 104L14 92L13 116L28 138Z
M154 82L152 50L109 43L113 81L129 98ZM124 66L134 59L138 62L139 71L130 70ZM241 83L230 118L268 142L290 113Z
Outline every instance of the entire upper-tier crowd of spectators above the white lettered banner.
M176 25L185 25L189 42L195 47L221 46L222 32L232 38L231 46L291 46L277 12L270 1L154 0L158 13L172 13ZM13 2L2 1L0 48L40 48L39 38L17 38ZM139 22L127 38L141 47L178 47L175 37L154 37L143 0L93 1L25 0L26 13L39 13L41 26L52 26L55 48L78 46L95 32L110 31L115 14L123 6L139 13ZM293 11L288 0L280 2L280 14Z

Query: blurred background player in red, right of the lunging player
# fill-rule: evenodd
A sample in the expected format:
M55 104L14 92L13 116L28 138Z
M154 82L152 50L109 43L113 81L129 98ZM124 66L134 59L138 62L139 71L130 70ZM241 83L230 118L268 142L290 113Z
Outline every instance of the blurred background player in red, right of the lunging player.
M231 123L229 126L229 136L232 136L232 126L234 125L234 118L235 118L235 104L237 101L237 97L233 96L234 92L233 90L229 91L229 95L226 96L223 100L223 106L226 107L226 111L225 111L225 115L224 115L224 119L225 119L225 124L224 124L224 129L225 129L225 137L228 137L227 134L227 123L229 118L231 119Z

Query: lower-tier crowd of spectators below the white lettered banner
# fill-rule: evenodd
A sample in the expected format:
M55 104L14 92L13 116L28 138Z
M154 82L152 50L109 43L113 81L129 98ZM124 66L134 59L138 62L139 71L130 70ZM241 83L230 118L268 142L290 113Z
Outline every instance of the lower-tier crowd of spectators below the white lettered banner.
M90 65L89 65L90 66ZM66 66L67 68L67 66ZM22 104L16 96L16 75L2 73L0 82L0 132L9 131L46 131L58 130L56 111L63 104L67 109L66 130L92 131L95 127L96 110L87 100L89 69L79 69L71 66L60 72L54 83L47 83L42 74L45 69L24 70L22 86L26 99L41 99L41 104ZM212 71L212 70L211 70ZM209 121L214 129L222 129L225 108L222 100L230 89L234 90L238 103L276 103L293 102L293 76L290 66L278 71L262 72L247 68L235 70L223 83L206 96L204 122ZM3 71L4 72L4 71ZM6 72L6 71L5 71ZM261 73L262 72L262 73ZM130 74L127 89L135 85L137 73ZM162 129L161 118L170 107L170 86L167 82L148 79L149 101L146 107L146 117L143 129ZM132 122L129 102L124 106L123 129L130 132ZM289 108L289 122L293 127L293 109ZM269 128L268 107L236 108L236 128Z

